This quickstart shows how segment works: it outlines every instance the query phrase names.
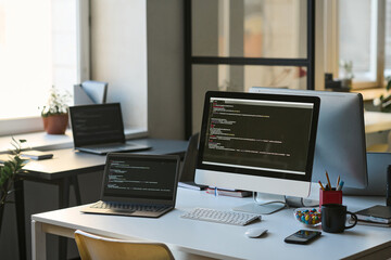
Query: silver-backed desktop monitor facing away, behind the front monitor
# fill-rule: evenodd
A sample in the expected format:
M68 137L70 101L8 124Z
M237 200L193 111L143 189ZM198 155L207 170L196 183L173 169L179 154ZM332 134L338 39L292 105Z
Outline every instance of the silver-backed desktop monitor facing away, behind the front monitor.
M311 95L320 99L313 182L331 184L338 177L344 186L364 188L368 184L363 96L360 93L253 87L251 93Z

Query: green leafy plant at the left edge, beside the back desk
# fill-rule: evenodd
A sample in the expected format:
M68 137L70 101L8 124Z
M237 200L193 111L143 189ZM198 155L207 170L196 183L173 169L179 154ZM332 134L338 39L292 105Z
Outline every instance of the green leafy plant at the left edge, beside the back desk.
M26 140L16 141L12 138L12 146L14 147L11 151L9 159L3 162L3 166L0 167L0 230L2 223L2 212L5 206L5 203L9 203L8 196L13 192L13 182L17 176L23 170L23 167L26 165L27 160L21 158L21 144L25 143Z

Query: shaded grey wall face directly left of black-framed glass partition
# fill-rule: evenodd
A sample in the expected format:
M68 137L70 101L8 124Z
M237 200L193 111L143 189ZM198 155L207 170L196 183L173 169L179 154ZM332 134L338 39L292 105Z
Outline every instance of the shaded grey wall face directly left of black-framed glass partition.
M148 0L148 131L185 138L184 1Z

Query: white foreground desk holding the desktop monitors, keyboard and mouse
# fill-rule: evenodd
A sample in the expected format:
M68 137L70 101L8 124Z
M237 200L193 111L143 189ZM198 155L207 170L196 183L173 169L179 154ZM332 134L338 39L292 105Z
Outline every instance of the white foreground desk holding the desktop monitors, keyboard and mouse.
M343 199L353 211L383 203L376 197ZM86 214L79 212L79 207L34 214L33 259L46 259L46 233L73 237L76 229L116 238L162 242L174 253L181 251L218 259L354 259L368 253L375 253L370 255L371 259L380 259L376 255L379 252L391 257L391 229L388 227L357 225L343 234L323 232L311 246L286 244L286 236L304 227L293 218L293 209L264 216L261 222L247 226L180 218L194 207L230 209L251 200L178 188L176 209L160 219ZM254 226L267 229L268 233L262 238L245 237L245 230Z

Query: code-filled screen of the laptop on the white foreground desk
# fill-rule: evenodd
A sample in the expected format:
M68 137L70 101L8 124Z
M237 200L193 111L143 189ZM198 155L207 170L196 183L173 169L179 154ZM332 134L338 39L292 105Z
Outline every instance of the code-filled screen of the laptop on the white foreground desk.
M102 183L102 198L124 202L172 202L176 195L178 156L111 153Z

